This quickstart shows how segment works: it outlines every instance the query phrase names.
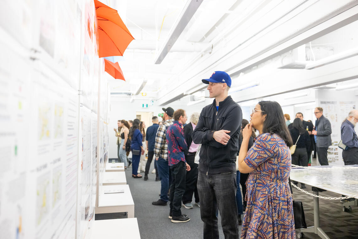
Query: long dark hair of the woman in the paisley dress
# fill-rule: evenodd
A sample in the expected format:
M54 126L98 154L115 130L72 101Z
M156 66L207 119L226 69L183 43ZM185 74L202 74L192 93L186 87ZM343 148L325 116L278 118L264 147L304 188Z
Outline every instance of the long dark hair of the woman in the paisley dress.
M292 138L287 129L284 113L281 105L276 101L260 101L261 115L266 114L266 119L263 121L262 133L278 134L287 144L292 146Z

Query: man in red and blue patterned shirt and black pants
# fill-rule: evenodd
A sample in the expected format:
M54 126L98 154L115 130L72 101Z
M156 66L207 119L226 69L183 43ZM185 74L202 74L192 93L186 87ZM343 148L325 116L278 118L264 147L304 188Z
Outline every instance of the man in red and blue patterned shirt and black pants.
M187 113L183 109L174 112L174 123L166 130L166 143L168 144L168 164L171 172L170 185L170 212L172 223L185 223L190 220L182 214L182 198L185 191L186 171L190 166L185 161L188 146L184 138L183 124L187 121Z

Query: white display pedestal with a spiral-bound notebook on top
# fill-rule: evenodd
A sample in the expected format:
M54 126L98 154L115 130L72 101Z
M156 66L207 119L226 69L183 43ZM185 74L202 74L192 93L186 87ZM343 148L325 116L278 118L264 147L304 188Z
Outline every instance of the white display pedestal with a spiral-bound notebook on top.
M128 185L102 186L101 192L96 214L128 212L128 218L134 218L134 202Z

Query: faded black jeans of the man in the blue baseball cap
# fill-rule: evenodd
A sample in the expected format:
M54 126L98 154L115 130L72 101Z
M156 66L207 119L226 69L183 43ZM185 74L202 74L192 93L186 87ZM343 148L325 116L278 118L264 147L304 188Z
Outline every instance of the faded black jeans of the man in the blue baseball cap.
M240 238L236 205L236 173L209 174L199 171L198 192L200 216L204 222L204 238L219 238L219 209L225 239Z

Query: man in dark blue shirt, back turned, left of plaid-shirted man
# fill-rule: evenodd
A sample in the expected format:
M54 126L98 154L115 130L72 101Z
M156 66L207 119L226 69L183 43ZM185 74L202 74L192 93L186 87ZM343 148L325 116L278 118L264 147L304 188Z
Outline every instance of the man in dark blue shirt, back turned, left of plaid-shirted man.
M145 143L146 143L147 149L148 149L148 161L147 161L147 164L145 165L144 181L148 180L149 168L150 168L150 164L152 163L153 156L154 156L155 135L156 135L156 132L159 127L158 117L154 116L152 118L152 122L153 122L153 125L149 126L147 128L147 132L145 134ZM154 168L155 168L155 174L156 174L155 181L160 181L160 178L158 175L158 169L156 167L155 161L154 161Z

